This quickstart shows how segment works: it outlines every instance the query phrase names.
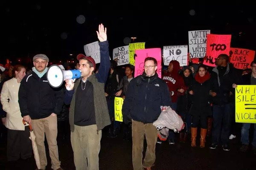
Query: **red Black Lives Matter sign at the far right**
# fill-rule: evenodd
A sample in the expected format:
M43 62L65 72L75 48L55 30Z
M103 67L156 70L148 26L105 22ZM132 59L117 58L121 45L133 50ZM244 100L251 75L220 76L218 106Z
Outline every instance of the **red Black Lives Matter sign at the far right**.
M250 63L254 59L255 51L243 48L230 48L230 51L230 62L234 65L235 68L250 68Z

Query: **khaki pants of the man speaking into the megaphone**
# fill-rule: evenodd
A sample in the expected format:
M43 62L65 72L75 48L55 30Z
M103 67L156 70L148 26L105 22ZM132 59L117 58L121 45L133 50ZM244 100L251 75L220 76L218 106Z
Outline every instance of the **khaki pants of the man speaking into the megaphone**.
M76 170L99 170L99 151L102 131L97 125L77 126L71 132Z

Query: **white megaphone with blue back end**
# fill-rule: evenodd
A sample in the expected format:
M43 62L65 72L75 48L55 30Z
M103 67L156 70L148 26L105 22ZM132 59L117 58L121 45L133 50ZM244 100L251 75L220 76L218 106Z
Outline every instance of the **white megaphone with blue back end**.
M51 65L47 71L47 80L53 88L58 88L65 80L79 79L81 77L80 70L62 70L58 65Z

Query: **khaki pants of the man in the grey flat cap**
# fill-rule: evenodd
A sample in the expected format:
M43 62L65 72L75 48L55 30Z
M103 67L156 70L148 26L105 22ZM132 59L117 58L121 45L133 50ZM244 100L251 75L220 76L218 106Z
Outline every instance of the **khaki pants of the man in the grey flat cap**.
M45 170L47 166L47 159L44 146L44 133L46 135L49 146L49 153L51 157L52 169L60 168L60 161L58 160L58 145L57 145L57 116L48 116L43 119L31 120L32 129L35 133L35 142L38 147L40 157L41 169Z

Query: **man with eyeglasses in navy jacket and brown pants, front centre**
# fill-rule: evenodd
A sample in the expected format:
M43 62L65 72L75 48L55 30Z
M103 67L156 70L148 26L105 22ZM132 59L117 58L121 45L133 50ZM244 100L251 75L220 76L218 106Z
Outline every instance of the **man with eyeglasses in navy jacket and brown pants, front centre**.
M160 106L170 106L169 91L166 83L156 73L157 60L147 57L142 75L131 80L122 106L123 116L132 119L132 162L134 170L151 170L157 142L157 128L153 122L161 113ZM147 150L142 163L144 135Z

